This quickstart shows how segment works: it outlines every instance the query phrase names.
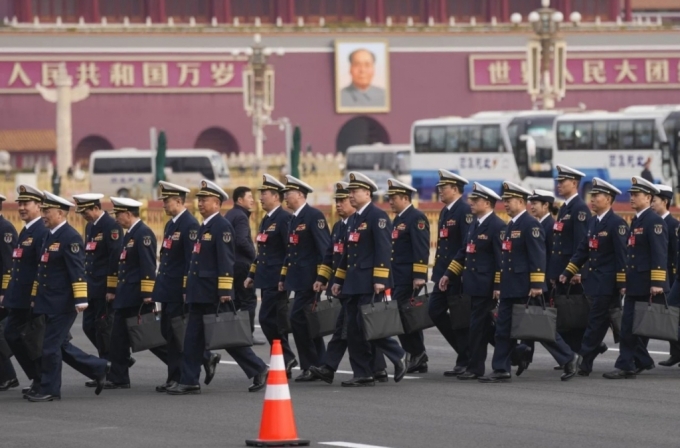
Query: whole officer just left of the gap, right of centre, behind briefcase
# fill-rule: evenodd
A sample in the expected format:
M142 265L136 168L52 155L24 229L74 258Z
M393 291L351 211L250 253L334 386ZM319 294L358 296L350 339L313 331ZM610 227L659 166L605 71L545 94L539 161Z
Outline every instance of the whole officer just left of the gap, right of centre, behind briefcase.
M404 308L427 283L430 223L425 214L411 204L411 197L417 192L415 188L392 178L387 180L387 186L390 207L397 214L392 223L392 299ZM409 358L406 372L427 372L422 330L399 335L399 342Z

